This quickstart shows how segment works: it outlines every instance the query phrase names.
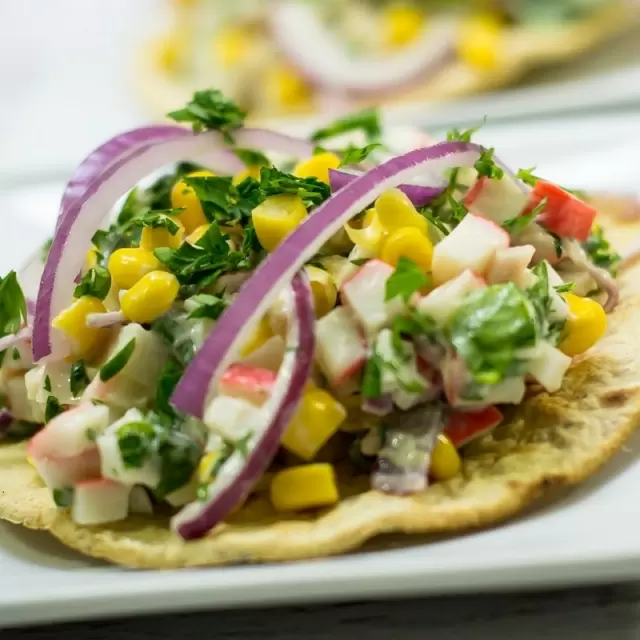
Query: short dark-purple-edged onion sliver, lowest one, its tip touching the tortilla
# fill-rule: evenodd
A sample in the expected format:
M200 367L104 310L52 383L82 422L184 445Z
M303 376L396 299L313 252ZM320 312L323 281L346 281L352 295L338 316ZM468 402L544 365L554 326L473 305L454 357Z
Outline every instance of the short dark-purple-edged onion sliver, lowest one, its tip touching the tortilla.
M192 502L172 519L172 529L186 540L205 535L249 494L276 455L302 398L311 376L315 350L313 296L302 272L293 279L291 294L293 314L287 332L287 348L271 397L262 409L267 426L251 438L246 457L236 451L223 465L208 487L206 500ZM205 372L199 384L206 390L208 382Z

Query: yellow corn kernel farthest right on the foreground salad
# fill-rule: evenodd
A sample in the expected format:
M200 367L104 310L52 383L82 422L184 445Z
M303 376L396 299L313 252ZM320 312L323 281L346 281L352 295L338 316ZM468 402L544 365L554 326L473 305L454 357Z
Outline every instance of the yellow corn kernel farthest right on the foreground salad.
M573 293L562 295L569 305L569 318L558 349L565 355L578 356L602 338L607 330L607 314L595 300Z

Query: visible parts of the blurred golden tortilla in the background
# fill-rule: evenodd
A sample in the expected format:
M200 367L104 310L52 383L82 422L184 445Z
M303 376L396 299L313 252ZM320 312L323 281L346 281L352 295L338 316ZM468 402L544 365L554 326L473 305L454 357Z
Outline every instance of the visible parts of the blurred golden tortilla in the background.
M495 69L479 70L453 61L437 76L429 77L424 85L394 91L390 100L394 104L407 104L448 100L490 91L514 82L538 67L576 58L637 24L637 10L634 10L629 2L619 0L606 4L590 18L569 25L545 29L514 27L507 33L500 65ZM190 83L158 68L154 58L156 48L155 41L152 41L141 51L135 67L134 90L155 117L163 117L187 102L194 91L202 88L202 78ZM384 99L376 99L376 102L380 101L384 102ZM304 114L260 111L252 113L251 119L260 120L283 115Z

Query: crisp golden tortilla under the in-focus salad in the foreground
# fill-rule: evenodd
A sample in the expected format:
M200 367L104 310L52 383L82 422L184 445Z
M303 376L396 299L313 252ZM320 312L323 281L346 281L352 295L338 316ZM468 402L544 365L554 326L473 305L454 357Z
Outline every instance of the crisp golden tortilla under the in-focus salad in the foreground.
M619 249L640 232L637 223L602 222ZM266 498L253 498L206 537L185 542L162 517L75 524L53 504L25 445L16 444L0 448L0 517L48 530L81 553L140 568L316 558L383 533L454 533L499 522L597 471L640 421L640 266L624 273L621 295L606 338L576 359L558 393L531 395L510 421L463 450L458 477L419 495L371 491L368 477L338 465L342 501L335 508L285 516Z

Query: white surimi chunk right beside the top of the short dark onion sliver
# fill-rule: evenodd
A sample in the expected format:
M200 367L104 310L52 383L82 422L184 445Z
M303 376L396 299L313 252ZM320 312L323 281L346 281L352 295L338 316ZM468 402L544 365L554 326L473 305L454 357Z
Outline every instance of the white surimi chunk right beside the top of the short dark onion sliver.
M316 361L332 386L358 373L366 359L366 346L349 309L336 307L316 322Z

